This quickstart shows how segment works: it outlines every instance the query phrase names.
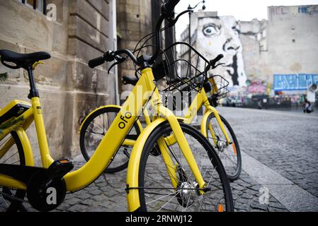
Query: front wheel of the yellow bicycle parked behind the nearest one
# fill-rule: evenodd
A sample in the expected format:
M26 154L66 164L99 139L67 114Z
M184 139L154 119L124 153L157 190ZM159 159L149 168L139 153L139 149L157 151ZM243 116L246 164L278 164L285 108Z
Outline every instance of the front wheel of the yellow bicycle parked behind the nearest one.
M220 124L215 118L215 114L210 114L207 121L207 132L208 140L212 144L213 148L217 150L225 171L227 172L227 177L230 181L234 181L239 178L239 174L242 171L242 157L241 151L239 150L239 142L237 137L229 125L227 120L220 115L223 126L225 126L225 131L227 136L229 136L230 143L224 136L221 130Z

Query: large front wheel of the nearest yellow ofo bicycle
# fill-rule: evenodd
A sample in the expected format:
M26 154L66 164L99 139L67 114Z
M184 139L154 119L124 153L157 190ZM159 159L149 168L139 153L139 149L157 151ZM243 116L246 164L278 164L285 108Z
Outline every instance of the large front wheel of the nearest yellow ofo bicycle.
M155 129L142 150L139 169L140 210L142 211L233 211L232 192L220 158L207 139L192 126L181 124L186 140L200 169L207 191L200 194L198 184L181 152L178 143L171 144L174 136L169 123ZM175 136L174 136L175 138ZM171 140L170 140L171 141ZM166 147L172 162L167 163L159 150ZM154 155L153 153L161 153ZM175 171L176 178L171 179ZM172 180L177 186L173 186Z

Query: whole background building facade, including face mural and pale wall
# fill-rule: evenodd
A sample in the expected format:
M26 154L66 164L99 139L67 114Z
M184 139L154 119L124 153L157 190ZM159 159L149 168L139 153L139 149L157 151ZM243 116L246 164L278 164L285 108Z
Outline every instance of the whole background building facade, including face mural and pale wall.
M225 75L229 72L228 79L245 73L246 81L265 81L271 85L274 75L297 78L302 74L309 75L307 83L310 84L318 83L317 25L317 5L271 6L268 20L251 21L236 21L232 16L199 11L192 16L191 36L195 47L206 57L225 55L225 72L221 69L215 72ZM188 28L182 39L188 40ZM297 83L297 79L282 83L288 88L287 83ZM233 84L245 85L239 79Z

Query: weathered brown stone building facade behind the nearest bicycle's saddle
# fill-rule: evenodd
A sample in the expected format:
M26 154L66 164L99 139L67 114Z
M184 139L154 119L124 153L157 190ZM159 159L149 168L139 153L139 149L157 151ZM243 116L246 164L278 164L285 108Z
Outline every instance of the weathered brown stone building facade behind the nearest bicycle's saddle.
M52 59L35 70L47 138L53 157L74 157L79 153L79 117L97 106L115 104L114 73L108 75L106 64L97 69L87 65L106 49L115 49L115 1L46 1L56 6L56 21L45 16L45 1L37 1L35 9L33 2L0 1L0 49L50 52ZM27 100L25 71L0 66L0 72L8 72L8 79L0 83L0 107L13 99ZM33 145L37 143L34 126L28 135Z

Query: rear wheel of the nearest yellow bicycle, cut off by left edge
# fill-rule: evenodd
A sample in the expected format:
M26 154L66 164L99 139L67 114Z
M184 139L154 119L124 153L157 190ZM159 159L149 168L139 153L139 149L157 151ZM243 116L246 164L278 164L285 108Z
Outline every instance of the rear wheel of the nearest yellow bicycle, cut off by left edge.
M23 147L16 132L12 132L0 141L0 153L11 141L13 141L13 145L4 156L0 157L0 164L25 165ZM26 191L24 190L14 190L0 186L0 212L25 212L26 210L22 204L25 194Z

